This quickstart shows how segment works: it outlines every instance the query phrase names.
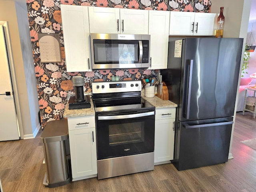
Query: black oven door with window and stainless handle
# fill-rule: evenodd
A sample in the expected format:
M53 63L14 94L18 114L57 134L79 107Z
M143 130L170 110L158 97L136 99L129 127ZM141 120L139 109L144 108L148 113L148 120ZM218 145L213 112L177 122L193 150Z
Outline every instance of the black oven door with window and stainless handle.
M96 116L98 160L154 152L155 112Z

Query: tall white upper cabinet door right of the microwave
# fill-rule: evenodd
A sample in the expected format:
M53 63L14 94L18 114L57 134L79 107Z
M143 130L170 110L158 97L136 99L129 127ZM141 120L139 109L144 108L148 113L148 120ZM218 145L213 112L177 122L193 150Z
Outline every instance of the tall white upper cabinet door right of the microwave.
M150 34L150 69L167 68L169 22L169 12L149 11L148 34Z

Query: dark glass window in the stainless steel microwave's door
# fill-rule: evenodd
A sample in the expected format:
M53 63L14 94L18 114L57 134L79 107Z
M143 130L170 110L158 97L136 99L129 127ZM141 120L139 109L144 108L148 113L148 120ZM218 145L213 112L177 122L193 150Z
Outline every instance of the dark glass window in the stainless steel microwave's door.
M134 64L139 61L138 40L93 40L95 64Z

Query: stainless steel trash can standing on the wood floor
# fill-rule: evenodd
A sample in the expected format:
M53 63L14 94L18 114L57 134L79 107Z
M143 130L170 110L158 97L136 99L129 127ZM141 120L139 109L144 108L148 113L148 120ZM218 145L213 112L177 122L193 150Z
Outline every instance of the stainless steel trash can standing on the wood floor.
M41 134L41 142L46 164L44 185L52 188L70 183L68 120L48 122Z

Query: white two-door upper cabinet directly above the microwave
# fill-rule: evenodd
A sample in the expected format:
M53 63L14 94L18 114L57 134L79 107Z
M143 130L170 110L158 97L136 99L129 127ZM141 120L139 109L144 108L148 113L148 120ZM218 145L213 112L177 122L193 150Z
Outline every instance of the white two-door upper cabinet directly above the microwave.
M148 34L148 11L89 7L91 33Z

